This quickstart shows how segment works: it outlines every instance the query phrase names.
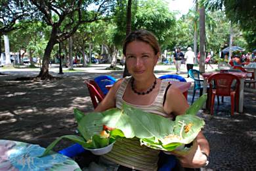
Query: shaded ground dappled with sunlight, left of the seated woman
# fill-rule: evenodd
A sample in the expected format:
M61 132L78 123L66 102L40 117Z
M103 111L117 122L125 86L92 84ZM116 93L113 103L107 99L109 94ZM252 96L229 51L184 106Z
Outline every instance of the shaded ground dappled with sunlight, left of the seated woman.
M74 108L93 111L84 79L102 73L65 73L51 81L15 81L16 77L35 76L36 71L6 72L0 78L0 139L38 143L47 147L57 137L74 134ZM111 73L110 73L111 74ZM114 72L121 77L121 71ZM63 141L56 150L70 142Z

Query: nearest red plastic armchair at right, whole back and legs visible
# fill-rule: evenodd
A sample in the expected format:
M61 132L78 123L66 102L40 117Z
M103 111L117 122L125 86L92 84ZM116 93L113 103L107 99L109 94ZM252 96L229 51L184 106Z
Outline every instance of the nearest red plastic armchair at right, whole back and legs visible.
M234 81L236 82L234 83ZM209 92L211 93L211 115L213 115L215 96L230 96L231 115L234 115L235 97L236 109L238 110L240 79L230 73L216 73L209 77L208 83L210 86Z

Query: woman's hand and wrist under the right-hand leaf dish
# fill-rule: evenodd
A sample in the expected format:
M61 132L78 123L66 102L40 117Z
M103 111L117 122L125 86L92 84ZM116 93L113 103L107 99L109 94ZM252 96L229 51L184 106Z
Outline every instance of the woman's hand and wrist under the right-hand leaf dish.
M185 168L201 168L205 166L207 161L207 157L202 154L202 149L200 149L196 140L194 140L192 147L188 151L176 150L172 151L171 154L175 155Z

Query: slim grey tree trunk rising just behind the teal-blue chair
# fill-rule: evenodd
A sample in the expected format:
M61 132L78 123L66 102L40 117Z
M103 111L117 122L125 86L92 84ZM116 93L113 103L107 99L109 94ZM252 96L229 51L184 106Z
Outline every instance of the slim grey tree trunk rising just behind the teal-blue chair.
M200 73L204 73L205 64L205 7L200 7L199 9L199 22L200 22Z

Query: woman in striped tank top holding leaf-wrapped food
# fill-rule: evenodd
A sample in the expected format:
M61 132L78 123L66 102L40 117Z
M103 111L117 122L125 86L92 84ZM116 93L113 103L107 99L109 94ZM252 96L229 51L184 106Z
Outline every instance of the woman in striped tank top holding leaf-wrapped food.
M123 54L132 76L117 81L95 111L121 108L123 102L170 119L186 111L189 105L179 89L174 86L169 86L164 100L168 83L154 75L160 46L152 33L146 30L130 33L123 43ZM157 170L159 153L159 150L140 146L137 138L124 139L117 140L112 151L104 155L101 161L120 164L118 170ZM209 144L200 132L187 155L179 155L175 151L173 154L179 158L182 166L200 168L207 161Z

